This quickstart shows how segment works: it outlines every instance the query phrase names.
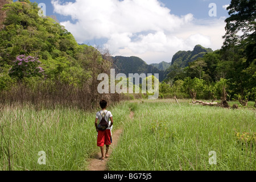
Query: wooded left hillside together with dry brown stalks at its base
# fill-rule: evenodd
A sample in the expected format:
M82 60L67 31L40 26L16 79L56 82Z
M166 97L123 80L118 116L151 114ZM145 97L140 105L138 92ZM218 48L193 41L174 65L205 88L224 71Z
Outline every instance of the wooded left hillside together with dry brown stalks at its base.
M7 3L3 10L2 100L94 107L101 97L97 93L97 76L110 72L112 67L111 61L102 58L108 53L77 44L73 35L55 20L38 15L37 3Z

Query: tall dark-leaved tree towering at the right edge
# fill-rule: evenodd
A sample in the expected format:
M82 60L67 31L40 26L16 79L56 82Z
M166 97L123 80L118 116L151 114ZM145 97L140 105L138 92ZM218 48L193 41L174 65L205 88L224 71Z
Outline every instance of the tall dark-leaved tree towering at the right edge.
M230 17L225 20L226 34L222 47L224 59L232 63L227 79L232 94L240 94L245 100L255 88L256 1L232 0L227 10Z

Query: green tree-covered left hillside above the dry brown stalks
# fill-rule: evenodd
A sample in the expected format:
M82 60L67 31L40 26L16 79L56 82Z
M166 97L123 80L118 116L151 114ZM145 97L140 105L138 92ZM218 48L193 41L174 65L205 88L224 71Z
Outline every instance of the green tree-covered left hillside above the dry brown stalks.
M96 82L90 79L97 81L96 75L111 67L96 48L77 44L73 35L55 20L40 17L37 3L17 1L5 5L4 9L7 16L5 28L0 31L0 67L13 66L11 77L18 80L34 77L37 82L42 77L63 85L81 87L87 82L92 86ZM20 64L16 60L19 55L38 57L42 68L36 61L34 65ZM28 84L28 80L24 83ZM31 84L28 85L32 88L36 85Z

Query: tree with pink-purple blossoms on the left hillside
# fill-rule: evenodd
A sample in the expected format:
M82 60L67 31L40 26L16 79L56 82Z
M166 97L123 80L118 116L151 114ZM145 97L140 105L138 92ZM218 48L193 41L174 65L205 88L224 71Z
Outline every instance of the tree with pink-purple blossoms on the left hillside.
M44 70L39 67L40 61L36 57L19 55L14 61L13 67L9 71L10 77L22 80L27 77L43 76Z

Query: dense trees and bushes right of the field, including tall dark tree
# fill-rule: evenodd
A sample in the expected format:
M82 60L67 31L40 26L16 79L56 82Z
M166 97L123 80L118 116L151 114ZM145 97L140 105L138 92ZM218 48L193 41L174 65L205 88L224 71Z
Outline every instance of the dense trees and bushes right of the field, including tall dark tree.
M255 100L256 93L256 26L255 1L232 0L230 17L226 22L224 46L220 50L205 53L203 58L189 63L181 56L170 67L171 72L160 92L178 97L221 98L223 87L229 99ZM238 32L240 34L238 34ZM176 56L184 52L177 53ZM183 62L184 61L184 62ZM175 65L177 64L178 65ZM184 64L183 64L184 63ZM183 68L179 65L187 65ZM169 86L170 85L170 86ZM245 104L246 105L246 104Z

